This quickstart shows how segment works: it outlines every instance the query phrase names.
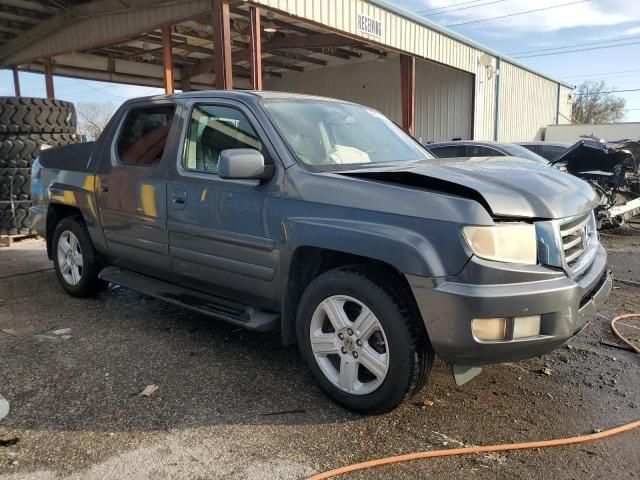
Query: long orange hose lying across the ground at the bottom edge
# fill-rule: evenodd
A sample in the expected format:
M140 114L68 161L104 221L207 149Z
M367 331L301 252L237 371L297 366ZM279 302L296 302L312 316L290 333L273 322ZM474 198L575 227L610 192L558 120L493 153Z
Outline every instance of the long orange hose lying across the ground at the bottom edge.
M578 437L558 438L555 440L543 440L538 442L509 443L505 445L487 445L484 447L451 448L447 450L409 453L406 455L397 455L395 457L370 460L368 462L356 463L353 465L348 465L346 467L336 468L334 470L329 470L327 472L313 475L309 477L308 480L323 480L338 475L344 475L345 473L356 472L358 470L379 467L382 465L390 465L392 463L408 462L410 460L418 460L421 458L450 457L454 455L469 455L471 453L504 452L507 450L525 450L531 448L557 447L560 445L575 445L578 443L591 442L593 440L599 440L601 438L610 437L619 433L628 432L639 427L640 420L636 420L635 422L627 423L626 425L621 425L619 427L605 430L603 432L591 433L589 435L580 435Z

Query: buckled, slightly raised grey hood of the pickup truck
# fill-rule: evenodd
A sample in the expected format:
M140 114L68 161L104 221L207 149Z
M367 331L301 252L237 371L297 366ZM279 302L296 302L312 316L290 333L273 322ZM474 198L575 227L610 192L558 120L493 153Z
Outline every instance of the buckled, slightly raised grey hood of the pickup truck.
M598 204L588 183L517 157L431 159L335 173L473 198L494 217L556 219Z

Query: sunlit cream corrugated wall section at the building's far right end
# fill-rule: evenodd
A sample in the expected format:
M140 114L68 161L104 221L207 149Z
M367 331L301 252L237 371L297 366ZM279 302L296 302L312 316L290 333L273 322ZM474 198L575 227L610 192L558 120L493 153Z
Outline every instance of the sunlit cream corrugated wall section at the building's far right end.
M558 84L502 61L498 140L540 139L543 128L556 123Z

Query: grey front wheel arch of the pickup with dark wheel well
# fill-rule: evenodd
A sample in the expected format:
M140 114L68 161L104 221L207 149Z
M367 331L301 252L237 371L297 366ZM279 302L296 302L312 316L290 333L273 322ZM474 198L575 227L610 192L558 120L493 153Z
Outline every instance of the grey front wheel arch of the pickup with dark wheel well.
M427 239L386 225L296 220L282 224L282 238L280 307L284 345L296 341L296 311L302 293L326 271L350 265L366 269L400 295L412 315L421 320L404 274L432 277L443 268Z

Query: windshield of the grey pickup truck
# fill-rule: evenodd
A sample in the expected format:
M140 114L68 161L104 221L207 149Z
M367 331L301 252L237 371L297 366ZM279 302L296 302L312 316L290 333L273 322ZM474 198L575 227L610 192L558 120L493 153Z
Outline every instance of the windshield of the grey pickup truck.
M332 169L433 158L376 110L323 100L271 99L264 107L306 166Z

